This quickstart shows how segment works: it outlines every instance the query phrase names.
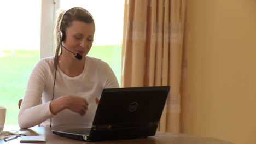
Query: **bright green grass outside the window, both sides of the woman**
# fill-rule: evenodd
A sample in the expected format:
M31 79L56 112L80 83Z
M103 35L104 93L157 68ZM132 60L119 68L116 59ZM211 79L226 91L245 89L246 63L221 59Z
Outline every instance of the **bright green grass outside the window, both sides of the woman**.
M39 61L39 50L2 52L5 55L0 57L0 106L7 107L5 124L18 125L18 101L24 97L28 77ZM107 62L120 84L121 45L93 46L88 55Z

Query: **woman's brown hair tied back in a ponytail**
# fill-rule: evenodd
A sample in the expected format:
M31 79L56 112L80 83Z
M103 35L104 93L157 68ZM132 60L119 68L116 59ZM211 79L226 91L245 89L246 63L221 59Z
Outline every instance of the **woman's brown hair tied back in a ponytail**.
M94 23L94 18L84 8L81 7L74 7L67 11L61 10L59 13L59 16L57 17L57 21L55 23L55 30L54 30L54 38L55 38L55 60L54 64L57 64L57 57L59 54L62 53L62 47L60 47L60 41L58 38L58 32L59 31L66 31L68 27L71 26L73 21L83 21L86 23ZM60 48L60 49L58 49Z

